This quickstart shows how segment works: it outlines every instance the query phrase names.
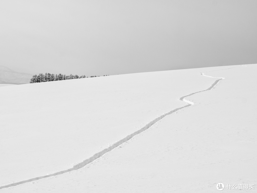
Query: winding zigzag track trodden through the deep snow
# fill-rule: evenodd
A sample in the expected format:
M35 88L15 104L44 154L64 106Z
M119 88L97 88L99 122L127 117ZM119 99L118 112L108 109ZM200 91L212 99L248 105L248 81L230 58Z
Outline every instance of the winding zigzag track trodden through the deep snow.
M200 74L203 75L203 76L207 76L204 73L200 73ZM205 90L194 92L194 93L191 93L191 94L188 94L188 95L185 95L185 96L182 96L181 98L179 98L179 100L186 102L187 105L179 107L179 108L176 108L176 109L173 109L173 110L171 110L171 111L161 115L160 117L155 118L154 120L149 122L147 125L145 125L141 129L139 129L138 131L135 131L134 133L126 136L125 138L121 139L120 141L114 143L113 145L111 145L111 146L105 148L104 150L94 154L93 156L89 157L88 159L86 159L86 160L84 160L84 161L74 165L72 168L67 169L67 170L62 170L62 171L59 171L59 172L56 172L56 173L48 174L48 175L45 175L45 176L35 177L35 178L28 179L28 180L23 180L23 181L11 183L11 184L8 184L8 185L5 185L5 186L1 186L0 189L12 187L12 186L17 186L17 185L20 185L20 184L23 184L23 183L27 183L27 182L31 182L31 181L35 181L35 180L40 180L40 179L48 178L48 177L51 177L51 176L57 176L57 175L60 175L60 174L63 174L63 173L67 173L67 172L70 172L70 171L73 171L73 170L78 170L78 169L84 167L85 165L87 165L87 164L93 162L94 160L96 160L97 158L103 156L105 153L107 153L109 151L112 151L115 147L118 147L121 144L123 144L124 142L127 142L128 140L130 140L135 135L140 134L143 131L145 131L146 129L150 128L153 124L155 124L156 122L158 122L162 118L166 117L167 115L170 115L170 114L172 114L172 113L174 113L174 112L176 112L176 111L178 111L180 109L183 109L183 108L189 107L191 105L194 105L194 103L192 101L186 100L185 98L188 97L188 96L191 96L193 94L199 93L199 92L204 92L204 91L211 90L220 80L224 79L222 77L212 77L212 76L207 76L207 77L219 78L219 79L216 80L209 88L207 88Z

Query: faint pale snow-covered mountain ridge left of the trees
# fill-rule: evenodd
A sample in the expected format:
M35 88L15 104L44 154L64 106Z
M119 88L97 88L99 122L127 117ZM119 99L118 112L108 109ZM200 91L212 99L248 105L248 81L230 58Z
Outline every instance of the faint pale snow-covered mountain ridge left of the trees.
M32 74L15 72L14 70L0 66L0 84L27 84Z

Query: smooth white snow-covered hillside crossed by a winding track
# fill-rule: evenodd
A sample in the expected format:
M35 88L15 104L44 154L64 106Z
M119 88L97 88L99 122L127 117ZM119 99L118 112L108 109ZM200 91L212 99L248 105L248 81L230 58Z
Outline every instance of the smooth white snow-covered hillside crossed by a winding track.
M0 192L212 192L218 182L254 183L256 68L1 87Z

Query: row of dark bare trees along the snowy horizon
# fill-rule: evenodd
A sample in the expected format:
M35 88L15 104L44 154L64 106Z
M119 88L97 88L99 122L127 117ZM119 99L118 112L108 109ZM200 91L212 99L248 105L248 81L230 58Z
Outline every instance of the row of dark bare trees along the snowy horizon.
M109 76L109 75L104 75L104 76ZM90 78L91 77L97 77L97 76L90 76ZM30 83L71 80L71 79L77 79L77 78L88 78L88 76L86 75L78 76L77 74L63 75L63 74L39 73L38 75L35 74L32 76L32 78L30 79Z

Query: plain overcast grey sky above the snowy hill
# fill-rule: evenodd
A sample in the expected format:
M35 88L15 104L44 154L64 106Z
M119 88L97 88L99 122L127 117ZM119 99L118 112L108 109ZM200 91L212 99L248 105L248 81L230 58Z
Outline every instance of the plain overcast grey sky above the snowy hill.
M256 0L1 0L0 65L126 74L257 63Z

